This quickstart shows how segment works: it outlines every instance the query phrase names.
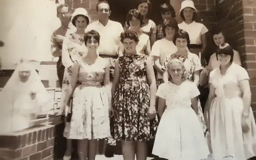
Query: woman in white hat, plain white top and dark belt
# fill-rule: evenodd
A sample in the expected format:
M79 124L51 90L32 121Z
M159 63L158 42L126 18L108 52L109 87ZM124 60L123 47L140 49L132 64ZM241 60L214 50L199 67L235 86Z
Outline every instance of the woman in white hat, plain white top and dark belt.
M205 33L208 32L208 29L204 24L195 21L197 8L192 0L184 0L181 3L180 16L184 21L178 24L179 28L189 33L189 51L198 56L199 52L204 55L207 45ZM202 65L205 66L205 64Z

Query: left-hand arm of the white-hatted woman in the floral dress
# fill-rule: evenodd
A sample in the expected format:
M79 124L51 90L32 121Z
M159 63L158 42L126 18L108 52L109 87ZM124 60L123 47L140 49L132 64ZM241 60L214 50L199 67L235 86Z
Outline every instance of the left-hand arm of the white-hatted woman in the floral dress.
M62 47L62 63L65 66L65 68L69 68L70 66L73 66L73 61L70 58L69 51L68 51L68 41L69 39L64 39L63 41L63 47Z

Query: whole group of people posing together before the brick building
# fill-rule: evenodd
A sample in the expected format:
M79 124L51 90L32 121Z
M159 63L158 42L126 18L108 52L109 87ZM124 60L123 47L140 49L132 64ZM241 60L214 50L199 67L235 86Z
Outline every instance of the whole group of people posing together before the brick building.
M124 27L109 19L105 0L96 6L95 22L84 8L71 14L66 4L57 7L62 25L51 51L59 57L63 160L71 160L72 139L79 160L95 160L98 139L108 139L106 148L121 141L124 160L146 160L150 140L152 154L167 160L256 156L249 77L239 53L215 29L217 50L207 66L208 29L195 22L193 1L182 2L180 24L173 7L162 4L163 22L156 26L148 18L151 7L138 0Z

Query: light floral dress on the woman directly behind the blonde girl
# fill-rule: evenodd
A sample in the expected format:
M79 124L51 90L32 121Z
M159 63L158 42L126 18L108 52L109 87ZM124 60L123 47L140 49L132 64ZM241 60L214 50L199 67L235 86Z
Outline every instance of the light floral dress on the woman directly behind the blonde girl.
M194 73L198 70L203 69L201 66L199 57L196 54L193 54L190 52L188 52L188 55L176 55L174 53L172 55L167 56L164 61L163 69L167 70L167 66L172 59L180 59L183 62L185 66L184 77L186 80L189 80L191 82L194 81ZM201 125L204 132L206 132L205 118L204 118L203 110L198 97L197 97L197 105L198 105L198 117L201 120Z

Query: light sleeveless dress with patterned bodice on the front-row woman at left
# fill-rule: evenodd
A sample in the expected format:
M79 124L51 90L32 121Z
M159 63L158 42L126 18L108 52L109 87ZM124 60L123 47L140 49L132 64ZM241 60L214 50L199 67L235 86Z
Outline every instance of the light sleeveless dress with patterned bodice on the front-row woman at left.
M108 92L102 86L108 62L98 57L89 66L79 60L79 85L73 94L71 122L66 124L64 137L89 140L110 137Z

